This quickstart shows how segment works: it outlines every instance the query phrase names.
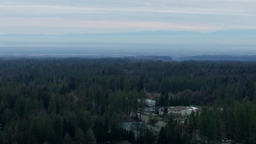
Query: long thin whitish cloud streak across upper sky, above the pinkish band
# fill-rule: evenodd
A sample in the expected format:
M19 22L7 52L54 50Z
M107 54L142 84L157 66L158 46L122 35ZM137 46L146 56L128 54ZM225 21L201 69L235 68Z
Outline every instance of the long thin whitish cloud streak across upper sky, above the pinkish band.
M184 14L213 14L213 15L241 15L256 16L237 9L206 9L206 8L119 8L119 7L80 7L65 5L0 5L2 11L20 11L42 13L99 13L99 12L152 12L152 13L184 13ZM8 13L7 13L8 14Z

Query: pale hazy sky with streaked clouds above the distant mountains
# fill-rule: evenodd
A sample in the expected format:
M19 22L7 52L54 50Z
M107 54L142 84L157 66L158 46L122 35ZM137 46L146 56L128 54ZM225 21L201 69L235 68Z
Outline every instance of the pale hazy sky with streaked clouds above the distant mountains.
M0 0L0 34L256 29L256 0Z

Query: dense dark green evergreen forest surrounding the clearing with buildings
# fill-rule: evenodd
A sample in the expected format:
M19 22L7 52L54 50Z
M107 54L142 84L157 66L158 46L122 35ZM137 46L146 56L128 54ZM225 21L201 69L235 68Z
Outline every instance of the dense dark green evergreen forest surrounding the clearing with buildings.
M122 123L140 121L146 92L161 107L204 107L136 137ZM255 101L256 62L0 59L1 144L194 144L195 133L253 144Z

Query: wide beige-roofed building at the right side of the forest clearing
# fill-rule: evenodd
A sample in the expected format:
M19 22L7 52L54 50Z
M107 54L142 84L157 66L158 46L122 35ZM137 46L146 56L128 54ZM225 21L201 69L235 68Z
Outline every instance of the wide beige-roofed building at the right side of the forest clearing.
M176 106L176 107L170 107L169 113L176 117L188 117L192 111L197 112L196 107L182 107L182 106Z

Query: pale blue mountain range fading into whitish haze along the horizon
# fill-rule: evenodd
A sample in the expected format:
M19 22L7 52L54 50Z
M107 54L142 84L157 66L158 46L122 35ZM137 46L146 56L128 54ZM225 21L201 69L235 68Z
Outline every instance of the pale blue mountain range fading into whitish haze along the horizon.
M225 29L215 32L142 31L97 34L5 34L0 42L65 43L166 43L166 44L256 44L256 29Z

